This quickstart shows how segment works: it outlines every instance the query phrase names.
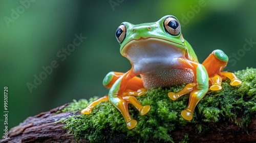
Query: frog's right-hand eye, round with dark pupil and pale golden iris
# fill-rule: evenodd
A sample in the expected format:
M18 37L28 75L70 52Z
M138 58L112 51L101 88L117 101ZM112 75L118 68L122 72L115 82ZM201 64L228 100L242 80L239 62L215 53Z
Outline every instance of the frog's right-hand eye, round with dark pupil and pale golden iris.
M173 16L166 17L163 26L165 31L172 35L178 35L181 31L178 19Z

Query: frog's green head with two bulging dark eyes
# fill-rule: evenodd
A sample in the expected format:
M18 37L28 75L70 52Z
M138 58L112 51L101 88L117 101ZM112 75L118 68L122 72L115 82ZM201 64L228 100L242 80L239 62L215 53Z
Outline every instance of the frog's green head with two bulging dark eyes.
M172 15L140 25L122 22L116 30L116 39L121 45L122 56L132 62L139 57L161 56L163 53L173 58L184 56L190 59L191 46L183 39L179 20Z

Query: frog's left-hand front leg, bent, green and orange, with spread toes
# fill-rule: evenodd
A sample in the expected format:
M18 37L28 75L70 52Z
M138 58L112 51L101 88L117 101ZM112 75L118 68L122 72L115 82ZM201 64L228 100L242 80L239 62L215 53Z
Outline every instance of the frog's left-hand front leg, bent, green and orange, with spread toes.
M127 73L116 80L109 91L109 101L122 113L128 129L133 129L137 125L137 121L129 113L127 106L129 103L133 104L141 115L146 114L150 110L149 105L142 106L135 97L123 94L127 84L135 76L137 75L133 73L132 69L127 71Z

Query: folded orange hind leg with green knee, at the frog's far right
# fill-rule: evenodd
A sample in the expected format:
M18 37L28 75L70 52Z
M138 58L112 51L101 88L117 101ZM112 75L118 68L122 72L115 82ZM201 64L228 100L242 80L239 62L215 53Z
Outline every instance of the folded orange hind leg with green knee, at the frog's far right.
M236 75L229 72L224 72L228 62L228 56L221 50L213 51L202 63L207 70L209 81L211 83L211 90L221 90L222 80L226 77L231 80L230 85L236 86L242 83Z

